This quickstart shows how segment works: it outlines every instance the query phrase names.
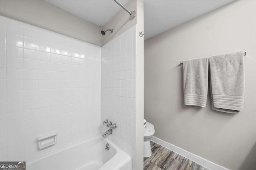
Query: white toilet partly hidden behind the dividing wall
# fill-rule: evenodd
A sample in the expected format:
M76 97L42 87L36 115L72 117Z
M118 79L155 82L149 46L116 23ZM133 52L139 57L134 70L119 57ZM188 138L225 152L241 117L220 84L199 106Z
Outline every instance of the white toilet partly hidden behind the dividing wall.
M154 135L154 133L155 133L154 125L147 122L146 127L144 127L144 157L146 158L152 155L149 140Z

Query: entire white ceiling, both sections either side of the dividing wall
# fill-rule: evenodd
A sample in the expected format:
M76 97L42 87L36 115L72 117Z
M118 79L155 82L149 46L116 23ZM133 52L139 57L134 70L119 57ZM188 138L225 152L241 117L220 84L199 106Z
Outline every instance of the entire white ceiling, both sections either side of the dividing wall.
M45 0L98 26L121 9L113 0ZM129 0L120 0L126 4ZM144 39L210 12L234 0L144 0Z

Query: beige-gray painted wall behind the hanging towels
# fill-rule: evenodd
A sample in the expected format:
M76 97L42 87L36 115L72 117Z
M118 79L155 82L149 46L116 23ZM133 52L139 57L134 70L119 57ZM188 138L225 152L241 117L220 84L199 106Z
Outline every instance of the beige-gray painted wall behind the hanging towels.
M144 118L155 136L230 169L256 169L256 1L236 1L144 42ZM184 106L180 61L243 50L244 110ZM209 91L208 91L209 94Z

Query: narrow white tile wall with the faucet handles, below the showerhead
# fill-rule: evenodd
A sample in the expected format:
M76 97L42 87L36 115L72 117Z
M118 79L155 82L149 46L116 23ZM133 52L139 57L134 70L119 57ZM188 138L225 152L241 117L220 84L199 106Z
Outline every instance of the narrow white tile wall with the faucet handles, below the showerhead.
M113 143L133 158L136 167L136 25L102 47L101 121L116 123ZM108 130L101 124L101 132Z

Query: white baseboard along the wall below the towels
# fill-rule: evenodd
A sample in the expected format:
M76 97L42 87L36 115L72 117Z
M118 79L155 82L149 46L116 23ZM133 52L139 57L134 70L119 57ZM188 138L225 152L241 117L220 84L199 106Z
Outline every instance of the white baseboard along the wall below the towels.
M152 137L150 139L151 141L158 143L159 145L162 145L163 147L172 150L173 152L176 152L177 154L184 156L185 158L188 158L192 160L193 162L196 162L197 164L200 164L201 166L204 166L205 168L208 168L210 170L228 170L227 168L224 168L223 166L217 165L209 160L206 160L200 156L197 156L195 154L192 154L184 149L181 149L179 147L176 147L175 145L172 145L166 141L163 141L162 139L159 139L157 137Z

